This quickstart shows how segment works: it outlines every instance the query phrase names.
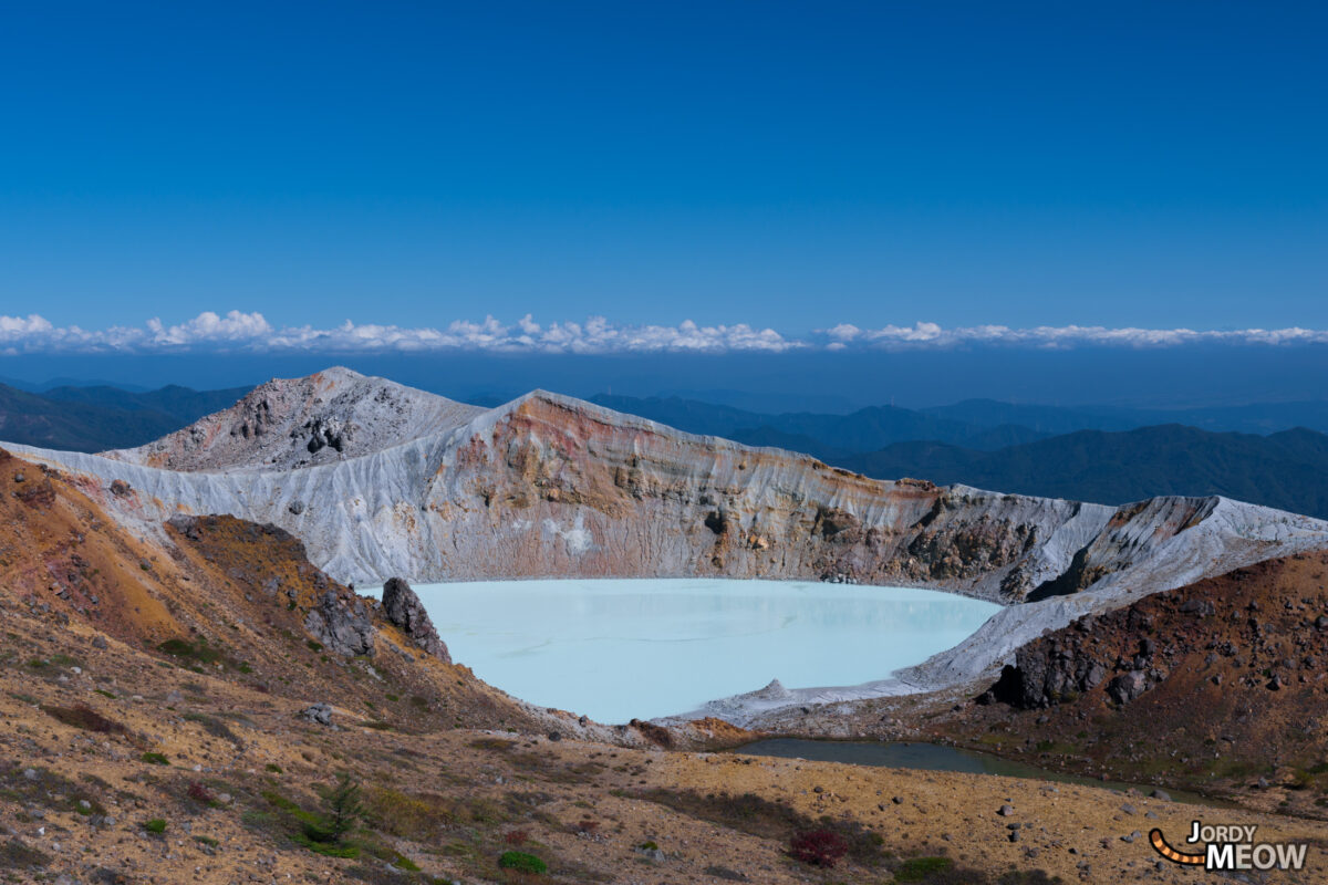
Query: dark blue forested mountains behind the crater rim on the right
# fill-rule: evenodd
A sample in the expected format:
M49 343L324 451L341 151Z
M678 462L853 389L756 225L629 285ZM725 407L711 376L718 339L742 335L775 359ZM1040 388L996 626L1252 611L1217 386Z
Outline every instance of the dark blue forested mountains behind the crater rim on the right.
M1328 403L1162 413L971 399L927 410L878 406L849 415L770 415L680 398L599 395L594 402L689 433L805 451L880 479L912 476L1102 504L1226 495L1328 517L1328 435L1282 429L1291 415L1317 415L1328 427ZM1278 433L1134 423L1175 415L1211 427L1268 426Z

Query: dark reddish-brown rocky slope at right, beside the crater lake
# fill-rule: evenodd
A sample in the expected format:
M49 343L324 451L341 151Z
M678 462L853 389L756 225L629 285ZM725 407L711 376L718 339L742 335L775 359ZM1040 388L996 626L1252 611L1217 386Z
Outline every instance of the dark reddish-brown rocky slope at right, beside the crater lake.
M930 723L1041 766L1328 816L1328 553L1084 618Z

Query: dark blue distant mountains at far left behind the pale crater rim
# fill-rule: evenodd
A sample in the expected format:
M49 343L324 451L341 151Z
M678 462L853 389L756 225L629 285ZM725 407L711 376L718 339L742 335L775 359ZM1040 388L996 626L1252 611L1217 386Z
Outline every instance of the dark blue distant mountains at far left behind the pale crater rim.
M139 446L234 403L248 387L139 393L112 386L29 393L0 385L0 439L68 451Z

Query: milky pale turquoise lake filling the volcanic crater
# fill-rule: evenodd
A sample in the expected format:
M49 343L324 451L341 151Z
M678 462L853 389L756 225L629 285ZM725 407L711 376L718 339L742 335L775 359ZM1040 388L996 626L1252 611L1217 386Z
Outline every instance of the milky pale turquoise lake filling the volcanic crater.
M533 580L414 588L453 659L537 705L619 723L778 678L849 686L943 651L1000 606L799 581Z

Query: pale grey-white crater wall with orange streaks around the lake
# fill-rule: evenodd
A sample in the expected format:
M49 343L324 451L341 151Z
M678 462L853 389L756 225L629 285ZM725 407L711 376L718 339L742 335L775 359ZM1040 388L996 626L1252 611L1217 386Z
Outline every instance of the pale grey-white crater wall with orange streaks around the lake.
M1007 606L955 649L854 693L964 682L1078 614L1328 547L1320 520L1223 498L1117 508L876 480L544 391L485 411L348 370L260 390L129 452L7 447L81 474L139 531L178 511L275 523L360 585L843 576ZM236 427L259 411L278 418L246 439ZM324 441L343 433L341 451L309 459L300 434L319 427Z

